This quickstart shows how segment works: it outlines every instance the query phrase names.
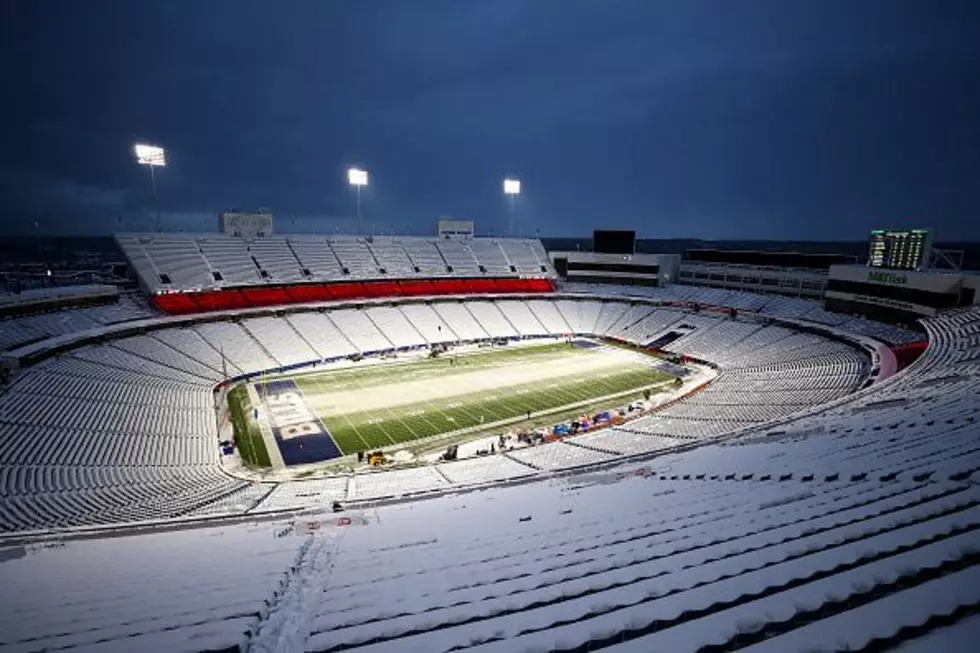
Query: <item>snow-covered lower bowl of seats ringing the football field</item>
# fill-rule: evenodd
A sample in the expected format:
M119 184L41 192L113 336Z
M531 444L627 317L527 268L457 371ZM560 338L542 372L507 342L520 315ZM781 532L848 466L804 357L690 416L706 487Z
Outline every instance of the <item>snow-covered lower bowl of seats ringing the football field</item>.
M686 296L693 294L696 290L685 290ZM8 445L7 457L0 463L2 482L16 497L4 505L0 523L10 530L225 514L243 511L262 499L265 494L246 491L248 483L225 476L215 465L211 389L225 374L254 373L426 341L513 336L518 333L513 323L523 334L552 335L562 335L569 328L616 331L617 326L625 325L627 335L641 342L649 334L629 330L639 321L670 328L676 323L696 327L671 347L718 363L720 375L700 392L650 417L578 436L574 444L514 451L508 454L513 458L447 463L458 466L435 476L405 470L404 481L372 476L352 482L353 489L348 489L345 498L381 498L464 485L470 482L466 479L490 482L536 470L560 471L612 461L619 455L690 446L736 430L751 432L771 420L786 421L820 404L846 400L868 371L868 361L857 349L811 333L706 313L692 315L676 308L587 298L446 299L151 329L76 347L37 363L18 374L10 390L0 395L6 407L0 412L0 424ZM929 358L954 366L957 376L944 378L940 370L945 368L937 367L938 363L932 363L932 368L917 365L914 370L932 370L929 383L935 386L918 389L886 383L879 395L886 402L884 408L863 399L876 396L873 393L859 393L854 404L843 404L849 408L835 409L840 411L835 419L843 423L855 419L855 414L864 421L876 415L907 416L908 406L920 405L907 402L908 397L925 393L934 403L942 397L949 412L930 406L920 411L921 421L910 423L921 426L945 414L955 416L963 395L949 389L965 390L972 375L980 373L977 362L968 355L970 347L963 345L980 336L976 326L980 321L956 314L934 322L938 326ZM534 324L533 329L529 327ZM902 378L915 377L905 374ZM87 387L91 393L86 392ZM902 397L902 406L891 403L893 394ZM926 419L930 411L935 419ZM838 428L826 425L830 418L822 419L822 428ZM969 429L952 430L959 439L950 442L968 447ZM909 437L913 437L911 431ZM413 480L413 474L425 478ZM178 487L176 479L184 482L177 493L188 501L183 507L166 494ZM121 484L141 489L122 490ZM64 491L51 492L58 487ZM43 490L38 495L41 498L29 497L34 490ZM134 502L133 492L143 492L143 498ZM297 489L295 500L301 502L306 494ZM276 496L280 495L268 493L263 505L280 505L269 498ZM284 499L281 505L290 501ZM104 514L96 514L101 507L105 507Z

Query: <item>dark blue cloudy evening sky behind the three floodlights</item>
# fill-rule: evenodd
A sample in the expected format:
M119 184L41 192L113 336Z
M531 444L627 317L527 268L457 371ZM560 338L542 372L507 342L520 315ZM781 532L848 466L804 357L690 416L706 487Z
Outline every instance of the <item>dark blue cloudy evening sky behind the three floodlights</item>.
M7 0L0 230L980 240L980 2ZM295 227L291 224L296 218Z

